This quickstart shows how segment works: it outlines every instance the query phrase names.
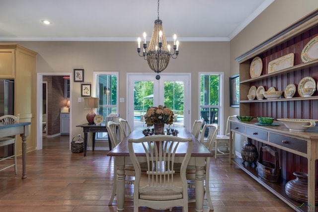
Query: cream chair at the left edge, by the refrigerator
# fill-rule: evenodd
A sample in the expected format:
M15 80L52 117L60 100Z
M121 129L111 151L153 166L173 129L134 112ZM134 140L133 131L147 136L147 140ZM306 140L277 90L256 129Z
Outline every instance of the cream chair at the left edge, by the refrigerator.
M0 116L0 122L2 122L2 123L5 123L5 122L15 123L15 122L17 122L17 120L18 120L18 117L14 116L14 115L2 115L2 116ZM7 145L10 145L10 144L13 144L13 155L12 156L7 156L7 157L3 157L3 158L0 159L0 161L13 158L13 164L9 164L9 165L6 165L5 167L2 167L0 169L0 171L14 166L14 173L17 174L16 136L14 135L12 137L0 138L0 147L7 146Z

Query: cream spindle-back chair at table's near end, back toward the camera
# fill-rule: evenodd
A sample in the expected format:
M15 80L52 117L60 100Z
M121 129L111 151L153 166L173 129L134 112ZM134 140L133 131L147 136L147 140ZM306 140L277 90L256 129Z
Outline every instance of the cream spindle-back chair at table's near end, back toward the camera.
M182 159L180 172L175 172L174 161L180 143L186 143L186 154ZM139 144L139 145L138 145ZM139 207L155 210L172 209L182 206L188 212L188 186L186 166L192 152L192 138L170 135L153 135L140 139L129 139L129 156L135 167L134 212ZM147 158L148 170L143 172L135 154L135 148L143 151Z

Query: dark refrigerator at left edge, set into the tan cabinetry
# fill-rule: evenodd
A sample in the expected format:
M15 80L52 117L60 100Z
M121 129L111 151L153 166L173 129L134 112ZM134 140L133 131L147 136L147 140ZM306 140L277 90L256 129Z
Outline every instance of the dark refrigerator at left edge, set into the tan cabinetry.
M14 115L14 82L0 80L0 116Z

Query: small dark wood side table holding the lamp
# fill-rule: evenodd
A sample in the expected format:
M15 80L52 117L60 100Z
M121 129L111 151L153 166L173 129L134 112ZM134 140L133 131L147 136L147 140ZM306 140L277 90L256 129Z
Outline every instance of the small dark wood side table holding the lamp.
M84 157L86 156L86 151L87 151L87 133L92 133L92 145L93 145L93 151L95 149L95 134L96 132L107 132L106 129L106 124L101 123L100 125L95 125L95 124L80 124L77 125L77 127L83 128L84 132ZM108 139L109 142L109 150L111 150L111 143L110 140Z

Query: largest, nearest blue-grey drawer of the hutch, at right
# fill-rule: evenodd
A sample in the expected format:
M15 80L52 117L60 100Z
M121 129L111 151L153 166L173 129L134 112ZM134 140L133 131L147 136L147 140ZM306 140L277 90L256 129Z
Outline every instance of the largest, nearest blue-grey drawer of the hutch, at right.
M270 133L269 142L307 154L307 142L303 140Z

